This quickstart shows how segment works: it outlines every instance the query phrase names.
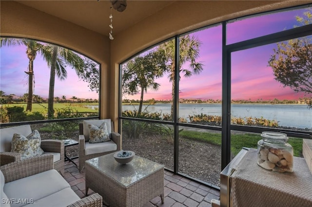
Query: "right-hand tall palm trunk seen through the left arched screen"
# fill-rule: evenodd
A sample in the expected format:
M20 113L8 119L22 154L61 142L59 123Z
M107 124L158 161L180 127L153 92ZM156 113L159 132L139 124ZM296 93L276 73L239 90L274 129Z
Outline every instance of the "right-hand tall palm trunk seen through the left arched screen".
M57 65L58 46L53 47L51 69L50 69L50 85L49 85L49 99L48 99L48 119L54 118L54 84L55 84L55 70Z

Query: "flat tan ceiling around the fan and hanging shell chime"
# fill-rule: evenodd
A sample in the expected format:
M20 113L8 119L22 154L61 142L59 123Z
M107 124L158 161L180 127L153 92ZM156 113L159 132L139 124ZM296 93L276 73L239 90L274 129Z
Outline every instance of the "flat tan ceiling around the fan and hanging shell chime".
M17 0L49 15L67 20L102 35L110 32L110 0ZM113 35L155 14L175 0L127 0L123 12L112 9Z

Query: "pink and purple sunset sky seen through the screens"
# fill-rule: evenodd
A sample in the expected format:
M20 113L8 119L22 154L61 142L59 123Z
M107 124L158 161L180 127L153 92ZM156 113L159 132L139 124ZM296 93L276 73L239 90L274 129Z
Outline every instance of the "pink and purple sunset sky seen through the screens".
M295 16L302 16L307 9L274 14L271 16L254 17L228 24L228 44L291 29L297 24ZM311 11L311 10L310 10ZM222 88L222 28L215 26L196 32L202 45L198 61L204 65L198 76L181 77L179 98L184 99L219 99ZM268 67L268 60L273 54L276 44L266 45L232 54L232 99L272 100L277 98L304 98L303 93L295 93L289 87L284 88L274 80L273 71ZM23 95L28 92L27 71L28 58L26 47L2 47L0 49L0 90L8 94ZM252 71L251 71L252 70ZM34 94L48 97L50 68L38 54L34 61L35 90ZM79 80L74 69L68 68L68 78L55 82L55 97L65 95L67 98L98 99L96 92L91 92L88 84ZM159 90L148 90L144 99L170 100L172 87L167 75L157 79ZM126 96L127 99L139 99L139 94Z

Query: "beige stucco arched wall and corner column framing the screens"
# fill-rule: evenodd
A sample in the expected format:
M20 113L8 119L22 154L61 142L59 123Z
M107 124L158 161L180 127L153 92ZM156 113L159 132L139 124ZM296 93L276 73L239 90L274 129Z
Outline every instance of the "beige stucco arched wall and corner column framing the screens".
M129 2L130 4L131 2ZM0 1L0 34L34 38L81 52L101 64L101 118L118 118L118 64L162 40L203 26L259 12L312 3L291 1L176 1L114 40L14 1Z

